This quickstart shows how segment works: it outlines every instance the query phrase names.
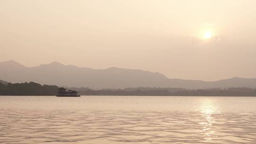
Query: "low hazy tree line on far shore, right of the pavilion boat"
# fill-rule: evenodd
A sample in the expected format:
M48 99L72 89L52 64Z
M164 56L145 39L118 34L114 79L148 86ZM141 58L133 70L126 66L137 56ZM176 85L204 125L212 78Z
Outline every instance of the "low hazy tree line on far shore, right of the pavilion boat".
M256 96L256 89L251 88L226 88L203 90L84 90L81 95L106 95L106 96Z

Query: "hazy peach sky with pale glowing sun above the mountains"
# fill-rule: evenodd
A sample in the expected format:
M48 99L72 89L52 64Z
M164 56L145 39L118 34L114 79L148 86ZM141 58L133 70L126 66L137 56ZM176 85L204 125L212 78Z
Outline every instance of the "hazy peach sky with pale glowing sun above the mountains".
M256 78L256 0L0 0L0 61Z

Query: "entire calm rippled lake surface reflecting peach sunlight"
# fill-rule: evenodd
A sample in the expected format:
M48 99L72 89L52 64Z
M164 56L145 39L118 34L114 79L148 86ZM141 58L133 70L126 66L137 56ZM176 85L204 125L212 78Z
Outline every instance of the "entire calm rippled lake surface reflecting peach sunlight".
M256 97L0 96L0 144L256 144Z

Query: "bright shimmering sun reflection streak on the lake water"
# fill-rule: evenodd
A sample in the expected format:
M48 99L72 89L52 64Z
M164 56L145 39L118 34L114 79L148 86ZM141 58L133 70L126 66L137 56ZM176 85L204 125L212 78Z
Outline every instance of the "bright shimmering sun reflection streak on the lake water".
M219 109L214 105L214 101L212 99L203 99L201 101L201 115L204 117L204 120L199 124L203 126L201 130L201 134L205 135L205 141L212 141L213 137L217 137L214 135L214 123L216 123L214 114L219 113Z

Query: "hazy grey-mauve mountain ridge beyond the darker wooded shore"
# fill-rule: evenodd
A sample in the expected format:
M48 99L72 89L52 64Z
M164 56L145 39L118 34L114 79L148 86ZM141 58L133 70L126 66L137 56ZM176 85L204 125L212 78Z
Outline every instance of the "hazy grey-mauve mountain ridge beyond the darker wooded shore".
M91 89L119 89L128 87L169 87L208 89L228 87L256 88L256 79L231 78L220 81L169 79L159 72L122 69L91 69L53 62L26 67L15 61L0 62L0 80L15 82L34 81L66 87Z

